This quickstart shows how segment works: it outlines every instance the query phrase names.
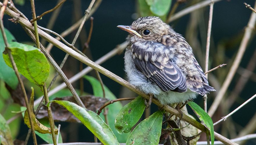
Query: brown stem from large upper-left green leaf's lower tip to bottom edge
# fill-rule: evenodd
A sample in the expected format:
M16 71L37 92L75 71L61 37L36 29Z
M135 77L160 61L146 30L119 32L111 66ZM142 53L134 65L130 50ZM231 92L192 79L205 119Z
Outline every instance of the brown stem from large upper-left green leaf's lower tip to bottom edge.
M48 97L47 87L46 87L45 84L43 86L43 92L44 92L44 96L45 96L45 104L48 104L49 97ZM55 133L54 133L54 120L53 120L53 117L52 117L52 114L51 114L51 106L49 106L49 107L46 106L46 107L47 107L48 119L49 119L49 123L50 123L50 127L51 127L52 141L53 141L54 145L57 145L56 136L55 136Z

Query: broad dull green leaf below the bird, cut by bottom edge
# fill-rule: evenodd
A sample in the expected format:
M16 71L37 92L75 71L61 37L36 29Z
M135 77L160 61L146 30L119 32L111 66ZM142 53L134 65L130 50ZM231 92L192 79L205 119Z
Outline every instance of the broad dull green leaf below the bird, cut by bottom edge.
M161 135L163 114L161 111L157 111L144 119L138 124L131 132L127 139L126 144L152 144L157 145Z

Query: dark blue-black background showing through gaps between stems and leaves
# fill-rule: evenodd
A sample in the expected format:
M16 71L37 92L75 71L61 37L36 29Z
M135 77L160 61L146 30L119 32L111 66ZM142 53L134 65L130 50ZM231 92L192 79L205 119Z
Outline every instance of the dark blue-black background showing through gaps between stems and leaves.
M46 10L49 10L53 8L56 5L57 1L53 0L38 0L35 1L35 8L36 8L36 14L42 14ZM191 1L187 1L184 4L181 4L176 12L179 10L182 10L186 8L187 4ZM83 15L83 12L88 8L90 1L81 1L81 9L80 14ZM174 1L173 1L174 3ZM172 3L172 4L173 4ZM254 5L255 1L248 0L246 3L250 4L251 6ZM30 1L26 1L24 6L18 6L16 7L26 16L28 19L32 19L31 14L31 5ZM207 25L208 25L208 17L209 17L209 6L203 8L205 11L204 17L202 19L205 19L205 30L207 31ZM120 1L120 0L112 0L112 1L102 1L101 5L99 6L98 10L93 14L94 17L94 26L93 26L93 34L90 41L90 51L92 55L93 60L97 60L113 48L117 44L122 43L125 41L125 38L127 37L127 33L119 30L116 28L117 25L130 25L134 19L132 19L132 14L136 12L136 1ZM226 39L230 38L236 38L241 37L243 35L244 28L246 27L249 17L251 15L251 10L246 9L243 1L236 1L236 0L223 0L220 2L217 2L214 4L214 12L213 12L213 22L212 22L212 32L211 32L211 48L214 46L217 46L217 44L221 41L225 41ZM49 18L51 17L51 14L47 14L43 17L42 20L38 21L38 25L42 27L46 27ZM183 16L182 18L173 21L170 23L171 26L173 26L174 30L186 38L186 29L187 29L187 23L189 21L190 14L187 14ZM22 27L19 24L14 24L7 20L9 18L8 16L4 17L4 26L10 30L10 32L15 36L16 40L18 42L26 42L31 41L31 39L27 36L27 34L24 32ZM80 19L80 17L79 17ZM70 27L75 22L75 16L74 16L74 5L73 1L67 0L63 7L61 8L61 12L58 16L58 19L55 22L54 30L57 33L61 33L64 30L66 30L68 27ZM86 32L88 34L88 31L90 29L90 22L89 20L85 23L86 31L83 29L83 32ZM76 30L77 31L77 30ZM65 37L65 39L68 42L72 42L74 35L76 33L74 31L71 35ZM207 32L206 32L207 33ZM254 35L253 35L254 36ZM198 36L200 37L200 36ZM253 37L252 37L253 38ZM84 40L85 41L85 40ZM76 46L77 48L81 48L81 44L84 43L84 41L80 41L80 39L77 40ZM241 39L239 39L236 43L236 45L227 46L225 48L225 55L226 60L232 59L232 56L237 52L239 48ZM253 38L248 45L248 48L246 49L246 52L244 54L244 57L241 61L240 66L243 68L246 67L249 59L251 58L254 50L255 50L255 38ZM205 47L203 46L205 49ZM216 53L215 50L210 49L210 58L211 54ZM62 52L60 49L54 47L51 50L51 55L54 57L56 62L58 64L61 63L63 57L65 56L65 53ZM125 77L124 73L124 61L123 61L124 54L116 55L113 58L109 59L105 63L103 63L101 66L104 68L110 70L111 72L115 73L116 75L120 77ZM213 59L213 58L211 58ZM227 62L222 62L227 63ZM232 62L229 62L228 65L231 66ZM202 68L204 69L204 64L201 64ZM213 68L215 66L209 66L209 68ZM221 68L220 68L221 69ZM67 77L72 77L74 74L79 72L79 62L75 59L72 59L69 57L68 61L64 65L64 73L67 74ZM94 75L93 73L91 75ZM120 95L120 88L121 86L112 81L111 79L105 77L104 75L101 75L104 84L118 97ZM218 76L216 76L218 77ZM240 75L236 74L235 78L233 79L231 85L229 88L233 88L235 85L235 82L240 77ZM224 80L223 80L224 81ZM88 93L92 93L92 88L90 84L87 81L84 81L84 89ZM221 82L222 83L222 82ZM79 83L74 83L74 87L79 88ZM241 102L236 102L230 111L237 108L242 102L244 102L249 97L253 96L255 94L255 81L249 80L246 84L246 87L241 93ZM232 89L230 89L232 90ZM133 96L131 96L133 97ZM209 99L208 107L210 106L210 103L213 99ZM202 98L198 97L195 99L195 102L198 103L200 106L202 105ZM233 121L236 122L237 126L243 127L248 123L248 120L255 114L255 100L251 101L249 104L244 106L241 110L239 110L237 113L232 115ZM155 105L152 105L152 113L157 110L158 108ZM193 114L193 113L191 113ZM223 116L225 116L224 114ZM218 118L219 119L219 118ZM215 121L217 121L216 119ZM83 125L79 124L68 124L68 123L61 123L62 124L62 132L66 132L63 136L63 142L93 142L93 135L88 134L87 129ZM70 127L72 126L72 127ZM74 131L72 131L74 129ZM20 133L18 135L18 139L23 140L26 136L28 128L22 123L22 128L20 130ZM78 130L79 132L77 132ZM218 131L217 131L218 132ZM86 139L85 139L86 138ZM89 140L88 138L91 138ZM39 141L39 137L37 138ZM30 143L32 144L32 137L30 140ZM248 142L248 144L255 144L256 140L254 139ZM40 141L39 141L40 143Z

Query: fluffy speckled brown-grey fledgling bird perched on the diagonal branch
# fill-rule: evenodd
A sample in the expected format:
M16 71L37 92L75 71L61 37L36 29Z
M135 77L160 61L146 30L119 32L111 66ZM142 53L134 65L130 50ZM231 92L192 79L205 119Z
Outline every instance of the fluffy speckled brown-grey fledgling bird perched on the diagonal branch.
M128 81L144 93L166 105L215 91L186 40L159 17L141 17L131 26L117 27L129 32Z

